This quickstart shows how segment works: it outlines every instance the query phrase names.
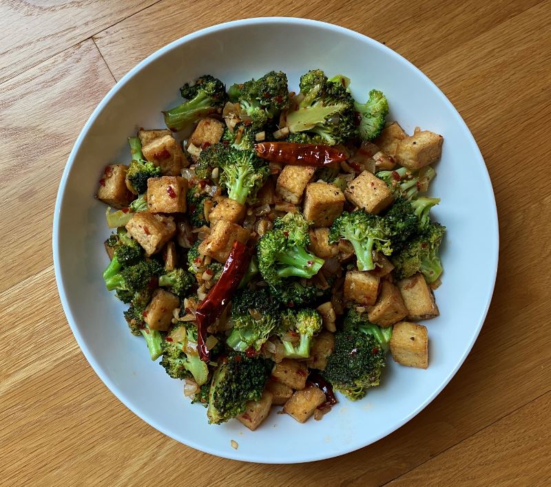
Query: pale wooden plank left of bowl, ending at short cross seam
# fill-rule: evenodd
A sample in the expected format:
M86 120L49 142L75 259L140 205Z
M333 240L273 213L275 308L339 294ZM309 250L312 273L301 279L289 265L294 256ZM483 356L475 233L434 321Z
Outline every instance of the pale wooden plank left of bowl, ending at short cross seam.
M52 263L61 173L84 122L112 85L92 40L0 85L0 291Z

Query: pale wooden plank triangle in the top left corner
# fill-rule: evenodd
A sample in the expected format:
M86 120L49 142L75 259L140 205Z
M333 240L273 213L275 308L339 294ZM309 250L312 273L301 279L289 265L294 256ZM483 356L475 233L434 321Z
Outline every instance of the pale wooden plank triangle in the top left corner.
M155 1L2 1L0 83L151 6Z

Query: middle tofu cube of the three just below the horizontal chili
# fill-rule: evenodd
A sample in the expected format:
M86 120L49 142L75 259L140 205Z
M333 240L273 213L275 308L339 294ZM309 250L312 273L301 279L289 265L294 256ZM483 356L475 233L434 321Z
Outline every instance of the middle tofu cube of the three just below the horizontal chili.
M334 184L314 182L304 193L304 218L313 221L314 227L331 226L342 213L344 195Z

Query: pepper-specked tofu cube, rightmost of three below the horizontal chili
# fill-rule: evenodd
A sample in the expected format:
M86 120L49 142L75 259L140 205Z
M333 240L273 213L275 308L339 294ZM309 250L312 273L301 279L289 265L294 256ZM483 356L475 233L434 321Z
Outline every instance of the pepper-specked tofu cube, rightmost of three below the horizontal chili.
M349 182L344 195L349 202L374 215L393 202L391 190L386 183L368 171Z

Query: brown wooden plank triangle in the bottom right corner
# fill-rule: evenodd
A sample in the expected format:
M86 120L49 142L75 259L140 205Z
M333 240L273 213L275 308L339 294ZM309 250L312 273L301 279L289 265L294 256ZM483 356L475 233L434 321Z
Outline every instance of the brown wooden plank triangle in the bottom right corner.
M530 402L388 486L548 486L551 393Z

